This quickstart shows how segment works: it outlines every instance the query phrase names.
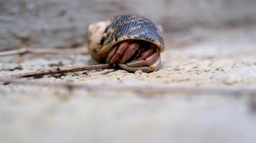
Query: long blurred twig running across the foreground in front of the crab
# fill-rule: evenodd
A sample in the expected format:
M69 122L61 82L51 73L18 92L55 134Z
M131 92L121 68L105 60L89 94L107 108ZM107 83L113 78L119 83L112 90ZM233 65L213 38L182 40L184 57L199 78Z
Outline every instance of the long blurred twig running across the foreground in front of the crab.
M176 87L172 85L155 85L155 84L76 84L73 82L39 82L33 80L16 79L14 77L0 77L0 81L4 84L22 84L31 86L47 86L47 87L64 87L67 89L85 89L85 90L111 90L111 91L133 91L155 94L172 93L172 94L213 94L213 95L255 95L255 87L225 87L225 88L209 88L209 87Z

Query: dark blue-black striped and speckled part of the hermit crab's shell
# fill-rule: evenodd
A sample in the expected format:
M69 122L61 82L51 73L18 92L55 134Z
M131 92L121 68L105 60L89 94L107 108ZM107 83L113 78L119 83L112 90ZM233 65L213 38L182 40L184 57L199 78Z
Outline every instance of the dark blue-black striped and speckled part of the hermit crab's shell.
M102 48L97 54L105 54L114 44L127 39L138 39L155 44L160 51L164 50L160 30L152 21L135 14L123 14L111 19L101 39Z

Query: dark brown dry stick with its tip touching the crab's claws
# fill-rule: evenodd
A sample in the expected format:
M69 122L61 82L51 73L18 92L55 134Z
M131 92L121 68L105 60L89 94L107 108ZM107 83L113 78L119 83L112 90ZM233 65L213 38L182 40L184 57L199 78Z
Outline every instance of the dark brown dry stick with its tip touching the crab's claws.
M65 74L68 72L76 72L76 71L87 71L93 69L109 69L111 68L110 64L95 64L90 66L76 66L76 67L58 67L57 69L47 69L45 71L33 71L27 72L24 74L14 74L11 77L14 78L26 78L26 77L35 77L39 78L45 75L52 75L52 74Z

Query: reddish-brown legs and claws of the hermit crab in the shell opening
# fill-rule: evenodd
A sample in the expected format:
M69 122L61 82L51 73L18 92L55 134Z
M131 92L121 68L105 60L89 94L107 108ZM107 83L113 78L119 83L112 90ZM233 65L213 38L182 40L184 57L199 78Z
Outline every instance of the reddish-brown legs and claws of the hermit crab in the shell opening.
M150 45L150 49L143 50L134 61L127 64L123 64L139 49L140 44L137 42L132 42L129 44L128 41L123 41L121 44L114 46L106 58L106 62L109 64L119 63L122 69L128 71L142 70L144 72L156 71L160 68L160 51L155 48L155 45Z

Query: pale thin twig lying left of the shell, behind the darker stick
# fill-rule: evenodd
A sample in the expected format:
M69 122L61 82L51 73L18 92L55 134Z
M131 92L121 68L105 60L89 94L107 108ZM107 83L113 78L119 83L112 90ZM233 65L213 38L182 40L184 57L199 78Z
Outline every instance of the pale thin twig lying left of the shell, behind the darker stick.
M9 51L0 51L0 56L12 56L17 54L87 54L86 48L79 49L33 49L24 47Z

